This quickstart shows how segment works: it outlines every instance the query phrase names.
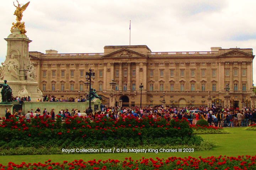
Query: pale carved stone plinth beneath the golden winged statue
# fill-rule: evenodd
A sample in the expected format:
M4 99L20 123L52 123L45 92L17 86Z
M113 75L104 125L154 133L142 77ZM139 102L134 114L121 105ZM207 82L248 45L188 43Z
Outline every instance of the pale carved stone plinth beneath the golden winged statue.
M14 97L31 97L31 101L43 99L42 92L36 82L36 71L28 54L29 43L32 42L18 28L12 29L7 38L7 55L2 64L0 83L7 80Z

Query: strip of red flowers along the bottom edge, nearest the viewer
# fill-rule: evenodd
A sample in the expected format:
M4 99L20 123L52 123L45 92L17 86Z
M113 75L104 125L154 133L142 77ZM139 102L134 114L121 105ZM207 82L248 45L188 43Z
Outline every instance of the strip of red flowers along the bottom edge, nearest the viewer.
M132 158L125 158L125 160L107 159L84 161L74 160L73 162L63 161L63 163L52 163L48 160L44 163L25 163L15 164L10 162L7 166L0 164L1 170L255 170L256 156L238 156L238 157L170 157L167 159L160 158L142 158L140 160L133 160Z

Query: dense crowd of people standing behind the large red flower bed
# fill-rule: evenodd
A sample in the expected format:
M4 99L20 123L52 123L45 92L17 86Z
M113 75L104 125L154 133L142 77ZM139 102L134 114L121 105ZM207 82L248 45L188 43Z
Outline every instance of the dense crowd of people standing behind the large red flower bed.
M193 113L195 110L200 112ZM14 114L15 117L21 117L22 111L18 111ZM6 119L10 117L10 110L6 108ZM88 117L91 120L96 119L100 116L106 116L110 119L119 119L121 117L133 116L135 118L143 119L151 115L154 119L164 118L167 121L171 119L182 119L186 118L190 124L196 124L198 120L204 119L208 121L209 125L219 126L219 127L234 127L234 126L249 126L251 124L256 123L256 110L251 108L236 108L235 110L224 109L222 107L165 107L157 106L157 107L105 107L102 108L102 111L97 111L94 113L89 113L88 108L85 111L80 111L79 109L72 109L69 111L68 109L61 109L55 113L54 108L50 111L47 111L46 108L41 111L40 108L37 108L36 111L27 111L23 116L26 117L27 120L31 120L31 118L44 115L46 117L51 117L53 120L58 117L61 119L65 119L68 116L74 117L78 115L79 117Z

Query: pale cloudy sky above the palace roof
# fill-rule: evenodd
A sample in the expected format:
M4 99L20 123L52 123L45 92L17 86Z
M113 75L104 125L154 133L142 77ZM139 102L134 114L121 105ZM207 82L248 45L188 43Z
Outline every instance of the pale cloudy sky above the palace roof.
M13 1L1 1L0 62L6 55L4 38L15 22ZM155 52L256 49L255 0L30 1L22 18L33 40L30 51L87 53L103 52L105 45L129 45L129 20L131 45L147 45Z

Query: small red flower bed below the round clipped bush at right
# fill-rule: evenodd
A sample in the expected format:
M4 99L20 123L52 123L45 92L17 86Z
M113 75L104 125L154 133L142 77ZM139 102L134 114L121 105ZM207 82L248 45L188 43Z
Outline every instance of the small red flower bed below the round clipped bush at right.
M215 126L190 125L194 134L228 134L223 128Z

